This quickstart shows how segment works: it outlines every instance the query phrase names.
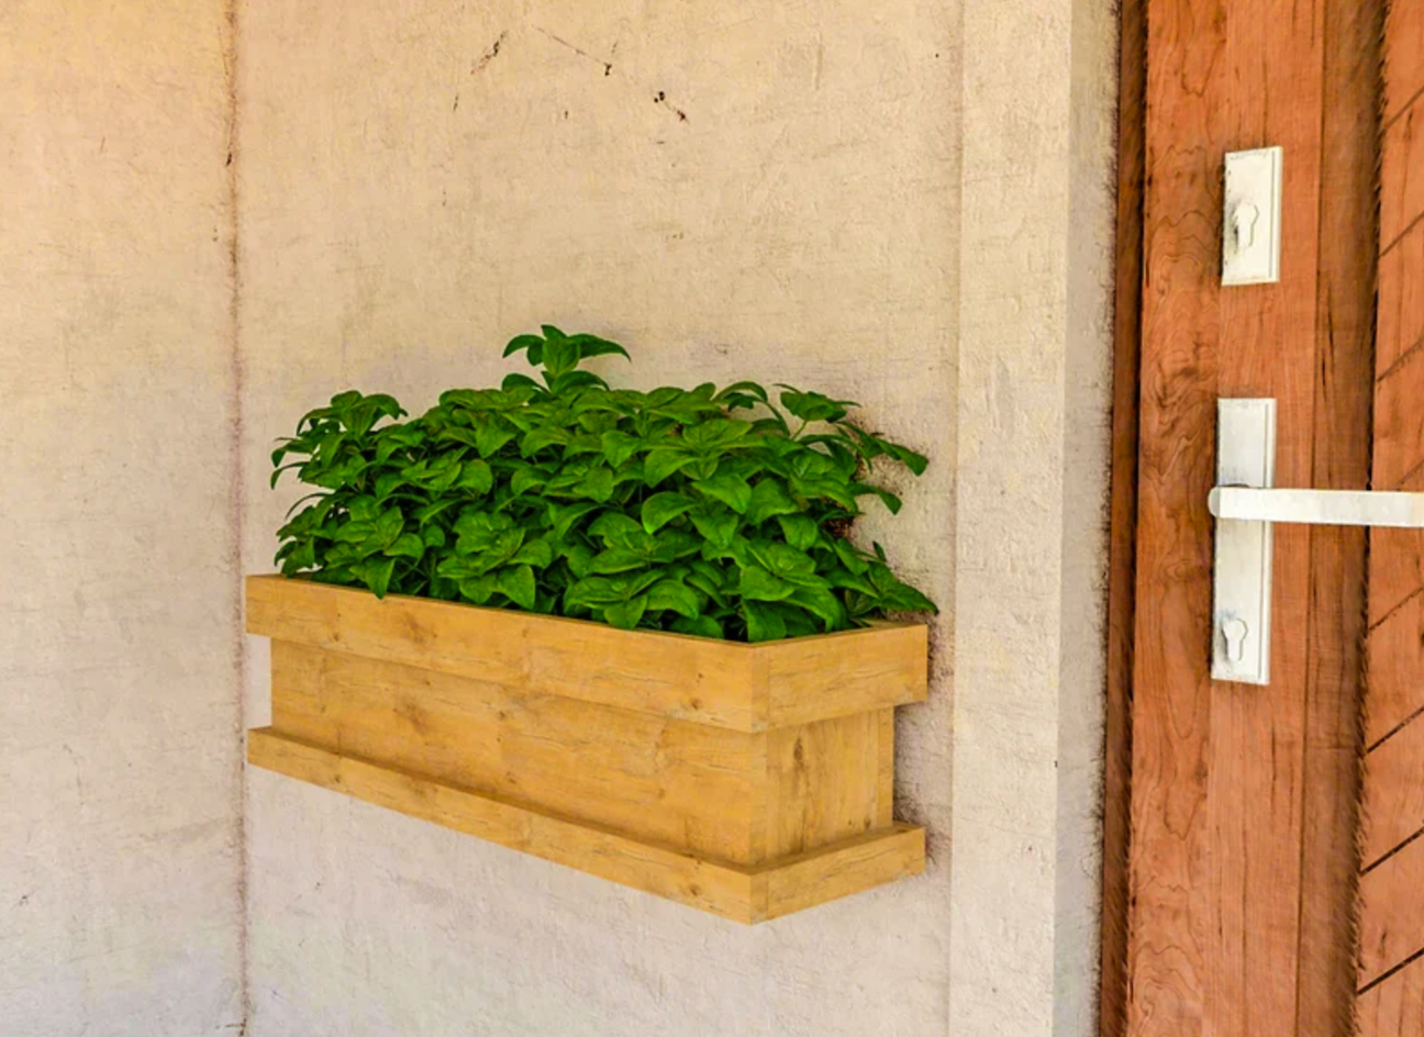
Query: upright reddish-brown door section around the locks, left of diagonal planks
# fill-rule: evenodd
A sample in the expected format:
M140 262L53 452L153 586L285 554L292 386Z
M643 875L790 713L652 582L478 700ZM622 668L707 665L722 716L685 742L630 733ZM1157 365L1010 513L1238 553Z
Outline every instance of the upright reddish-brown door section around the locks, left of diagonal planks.
M1212 684L1203 500L1218 397L1277 400L1277 484L1368 477L1377 16L1148 6L1131 1034L1349 1026L1364 543L1279 527L1272 684ZM1222 289L1222 157L1267 144L1282 279Z

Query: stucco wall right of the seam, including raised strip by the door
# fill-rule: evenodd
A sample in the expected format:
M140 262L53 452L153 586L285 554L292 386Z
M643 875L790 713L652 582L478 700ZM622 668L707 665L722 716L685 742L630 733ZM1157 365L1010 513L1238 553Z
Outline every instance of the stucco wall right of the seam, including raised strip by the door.
M899 722L928 872L756 929L251 771L249 1034L1087 1033L1106 0L248 0L239 36L249 570L303 410L420 409L553 321L627 383L859 399L934 459L863 533L946 607Z

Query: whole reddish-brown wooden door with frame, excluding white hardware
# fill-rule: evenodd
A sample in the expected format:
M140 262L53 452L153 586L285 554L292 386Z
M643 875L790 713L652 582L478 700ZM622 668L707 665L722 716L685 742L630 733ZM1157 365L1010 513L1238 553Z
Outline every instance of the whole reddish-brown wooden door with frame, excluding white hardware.
M1424 533L1277 526L1272 682L1213 682L1206 493L1232 396L1277 486L1424 490L1424 0L1129 0L1124 46L1104 1031L1421 1037ZM1280 283L1222 288L1267 145Z

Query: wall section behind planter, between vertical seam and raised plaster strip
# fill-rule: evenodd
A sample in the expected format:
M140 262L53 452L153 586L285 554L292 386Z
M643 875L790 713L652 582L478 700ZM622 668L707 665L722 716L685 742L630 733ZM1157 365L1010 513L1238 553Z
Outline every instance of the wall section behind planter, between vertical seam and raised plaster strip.
M625 383L863 402L936 459L866 533L948 605L956 40L953 6L909 0L249 3L249 564L292 500L263 454L305 409L349 385L423 409L551 321L624 342ZM899 728L928 873L756 929L249 772L251 1033L944 1033L948 615L934 640Z

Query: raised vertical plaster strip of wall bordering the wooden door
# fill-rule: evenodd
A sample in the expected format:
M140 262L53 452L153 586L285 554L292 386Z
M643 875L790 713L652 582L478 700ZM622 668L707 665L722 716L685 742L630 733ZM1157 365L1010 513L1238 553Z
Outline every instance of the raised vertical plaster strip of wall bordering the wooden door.
M1095 1033L1115 19L968 0L951 1033Z

